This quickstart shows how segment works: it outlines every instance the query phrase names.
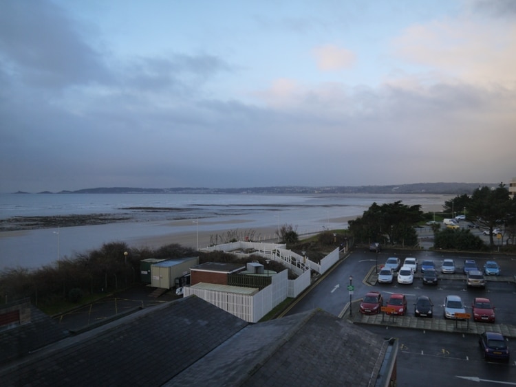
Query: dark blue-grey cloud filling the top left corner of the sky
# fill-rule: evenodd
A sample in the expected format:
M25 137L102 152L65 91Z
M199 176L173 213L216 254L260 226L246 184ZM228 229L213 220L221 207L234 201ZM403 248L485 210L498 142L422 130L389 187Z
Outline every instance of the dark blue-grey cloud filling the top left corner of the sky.
M66 87L110 78L80 26L47 1L5 1L0 12L3 71L38 87Z

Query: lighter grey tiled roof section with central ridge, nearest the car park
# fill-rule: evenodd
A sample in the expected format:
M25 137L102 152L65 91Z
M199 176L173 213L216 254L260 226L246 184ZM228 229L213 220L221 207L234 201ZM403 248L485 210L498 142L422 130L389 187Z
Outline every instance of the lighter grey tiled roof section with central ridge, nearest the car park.
M246 327L166 386L374 386L386 348L314 310Z

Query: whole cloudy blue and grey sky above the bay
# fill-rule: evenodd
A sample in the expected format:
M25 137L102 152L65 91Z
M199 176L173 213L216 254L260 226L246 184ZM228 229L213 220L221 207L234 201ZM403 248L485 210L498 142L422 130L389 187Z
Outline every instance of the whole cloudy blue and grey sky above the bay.
M5 0L0 192L516 177L516 1Z

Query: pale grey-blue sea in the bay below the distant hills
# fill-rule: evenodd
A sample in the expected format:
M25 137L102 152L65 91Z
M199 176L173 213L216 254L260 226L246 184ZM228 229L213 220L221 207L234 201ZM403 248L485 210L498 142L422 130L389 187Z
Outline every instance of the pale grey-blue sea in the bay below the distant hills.
M372 203L401 201L440 211L452 195L434 194L0 194L0 221L14 217L112 214L125 221L103 225L0 232L0 271L34 269L87 254L104 243L144 247L157 237L196 235L187 247L206 247L208 235L230 230L275 230L292 225L300 234L347 228L347 220ZM260 235L266 239L266 235ZM274 235L268 236L274 238ZM193 245L192 245L193 244ZM150 246L149 247L155 247Z

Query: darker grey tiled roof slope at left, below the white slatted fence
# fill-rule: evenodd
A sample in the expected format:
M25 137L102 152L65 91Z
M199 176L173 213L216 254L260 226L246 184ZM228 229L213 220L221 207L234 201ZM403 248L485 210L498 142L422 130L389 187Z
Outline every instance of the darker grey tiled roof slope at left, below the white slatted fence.
M2 386L160 386L248 323L195 296L143 309L0 368Z

